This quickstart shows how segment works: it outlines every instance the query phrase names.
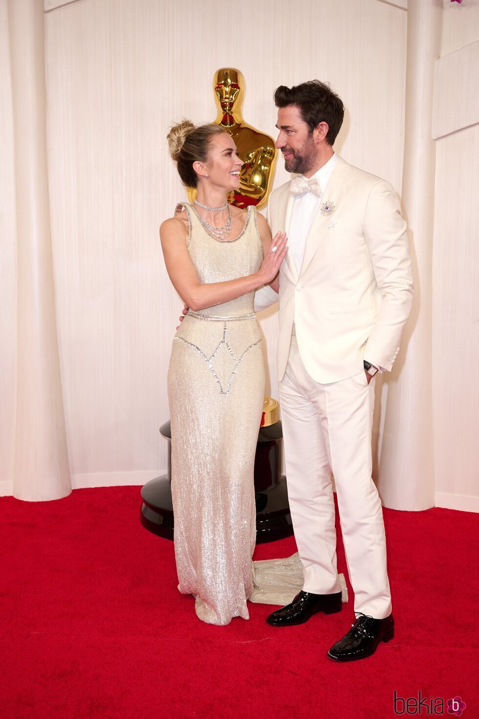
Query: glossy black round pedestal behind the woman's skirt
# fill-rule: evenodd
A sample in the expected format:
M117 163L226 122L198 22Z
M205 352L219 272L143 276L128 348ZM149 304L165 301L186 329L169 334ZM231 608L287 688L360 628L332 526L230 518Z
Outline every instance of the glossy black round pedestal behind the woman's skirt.
M168 474L147 482L141 488L140 521L149 531L173 539L173 505L171 494L171 429L169 422L160 428L168 440ZM254 460L256 490L256 542L273 541L293 533L289 513L286 477L281 475L282 426L276 422L259 430Z

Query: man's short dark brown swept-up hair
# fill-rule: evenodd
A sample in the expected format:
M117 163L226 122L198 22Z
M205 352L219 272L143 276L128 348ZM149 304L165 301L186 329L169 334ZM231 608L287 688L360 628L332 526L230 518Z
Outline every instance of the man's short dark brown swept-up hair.
M344 105L329 85L320 80L310 80L301 85L288 88L280 85L274 91L274 104L276 107L297 105L302 119L312 132L320 122L327 122L329 127L326 135L328 145L334 145L336 136L341 129L344 118Z

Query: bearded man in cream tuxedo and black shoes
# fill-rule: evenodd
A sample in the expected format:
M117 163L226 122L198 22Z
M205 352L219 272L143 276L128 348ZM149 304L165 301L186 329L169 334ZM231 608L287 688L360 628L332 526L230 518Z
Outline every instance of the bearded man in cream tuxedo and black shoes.
M411 259L392 186L332 149L340 98L310 81L279 87L274 99L276 147L299 174L269 200L271 233L287 232L289 252L279 296L262 288L255 309L279 300L279 397L304 586L268 622L291 626L342 608L332 472L357 618L328 656L350 661L394 636L371 426L374 375L392 369L411 310Z

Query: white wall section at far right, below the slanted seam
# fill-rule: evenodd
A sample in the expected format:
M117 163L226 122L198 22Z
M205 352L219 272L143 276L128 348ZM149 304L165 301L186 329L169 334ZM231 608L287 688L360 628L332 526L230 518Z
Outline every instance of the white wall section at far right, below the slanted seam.
M437 141L433 256L435 489L470 510L465 498L479 497L478 193L475 125Z

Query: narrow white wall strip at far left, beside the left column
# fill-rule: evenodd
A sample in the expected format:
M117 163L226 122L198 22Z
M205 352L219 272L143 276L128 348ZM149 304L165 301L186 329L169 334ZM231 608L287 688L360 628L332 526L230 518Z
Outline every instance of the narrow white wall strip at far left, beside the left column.
M9 27L0 0L0 495L11 494L17 372L17 228Z

